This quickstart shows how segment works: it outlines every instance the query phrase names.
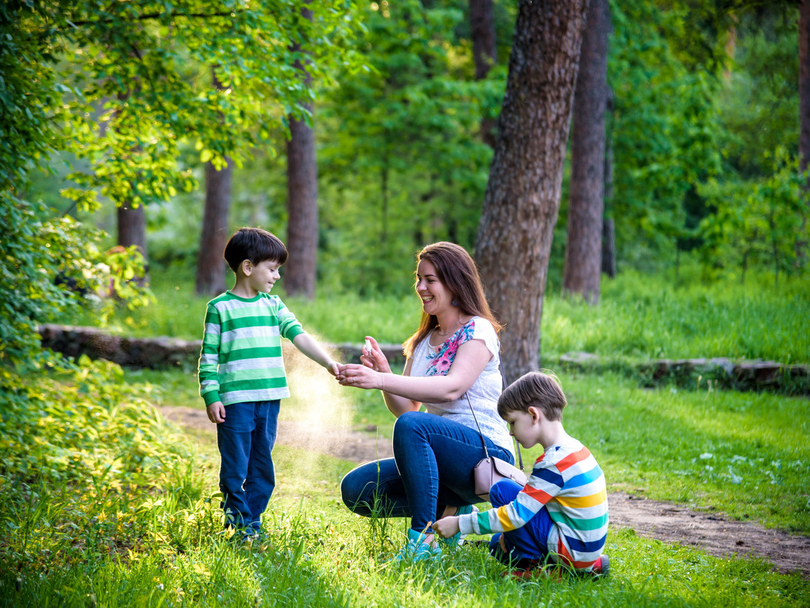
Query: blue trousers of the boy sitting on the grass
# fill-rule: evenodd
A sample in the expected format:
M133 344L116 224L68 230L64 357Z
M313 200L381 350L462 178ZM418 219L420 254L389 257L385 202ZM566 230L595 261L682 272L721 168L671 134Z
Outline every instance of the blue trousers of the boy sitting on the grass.
M518 497L523 487L511 479L501 479L489 490L489 500L492 508L502 507ZM543 507L526 522L522 528L504 532L506 553L501 550L498 539L501 534L492 534L489 541L489 552L495 559L513 568L522 568L525 560L543 561L548 555L548 534L551 532L554 521Z

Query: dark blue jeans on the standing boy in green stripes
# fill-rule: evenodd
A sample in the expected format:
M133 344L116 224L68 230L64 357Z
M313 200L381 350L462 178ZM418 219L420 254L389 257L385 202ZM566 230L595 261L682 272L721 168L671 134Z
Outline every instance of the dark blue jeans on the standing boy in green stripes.
M220 449L220 491L226 527L258 534L262 513L275 489L271 451L279 421L279 400L225 406L225 421L216 425Z

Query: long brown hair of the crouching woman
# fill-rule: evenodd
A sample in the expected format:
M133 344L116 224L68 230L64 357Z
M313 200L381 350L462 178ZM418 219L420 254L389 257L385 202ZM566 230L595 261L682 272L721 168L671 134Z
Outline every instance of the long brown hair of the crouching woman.
M443 240L428 244L416 254L417 267L422 260L429 261L436 268L437 278L453 294L459 313L483 317L492 323L496 333L501 331L501 324L496 321L489 309L478 268L470 254L467 253L467 249ZM438 324L435 315L422 313L419 329L403 344L406 358L413 354L416 345Z

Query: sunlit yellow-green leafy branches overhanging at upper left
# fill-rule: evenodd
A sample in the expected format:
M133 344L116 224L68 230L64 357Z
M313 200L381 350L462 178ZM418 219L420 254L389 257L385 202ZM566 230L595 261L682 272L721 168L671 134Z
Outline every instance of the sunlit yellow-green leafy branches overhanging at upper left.
M196 143L200 162L221 164L227 155L241 164L251 147L269 142L269 127L303 117L313 93L294 66L301 53L292 45L305 40L309 73L326 78L338 61L330 45L350 33L352 3L315 3L311 20L301 7L284 0L9 7L3 44L38 60L17 66L15 57L13 70L35 71L35 83L56 82L59 73L51 95L32 97L30 112L58 109L56 143L90 162L89 171L69 176L75 187L64 194L80 209L96 208L98 194L134 206L165 200L195 185L177 163L181 142ZM351 53L340 62L351 64ZM221 89L211 85L211 67Z

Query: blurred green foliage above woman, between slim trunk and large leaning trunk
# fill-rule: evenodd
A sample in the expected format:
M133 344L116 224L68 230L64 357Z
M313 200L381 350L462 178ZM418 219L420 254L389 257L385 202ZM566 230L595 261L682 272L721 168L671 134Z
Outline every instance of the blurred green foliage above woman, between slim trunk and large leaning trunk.
M497 114L505 74L475 82L469 42L448 34L465 19L418 0L364 14L356 49L369 70L343 70L318 113L324 288L398 289L424 244L472 246L491 157L479 124Z

